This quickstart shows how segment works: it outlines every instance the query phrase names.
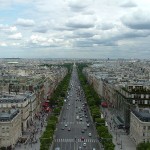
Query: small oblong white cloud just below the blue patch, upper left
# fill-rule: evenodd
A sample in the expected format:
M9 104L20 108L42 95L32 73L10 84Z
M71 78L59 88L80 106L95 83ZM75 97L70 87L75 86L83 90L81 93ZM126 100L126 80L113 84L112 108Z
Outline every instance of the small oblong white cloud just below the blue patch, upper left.
M18 18L16 21L16 25L23 26L23 27L31 27L35 25L35 22L32 19Z

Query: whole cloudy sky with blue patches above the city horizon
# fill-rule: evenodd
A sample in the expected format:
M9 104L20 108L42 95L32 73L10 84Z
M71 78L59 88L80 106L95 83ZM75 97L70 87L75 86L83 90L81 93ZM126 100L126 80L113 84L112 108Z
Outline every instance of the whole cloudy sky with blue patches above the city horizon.
M149 58L150 0L0 0L0 58Z

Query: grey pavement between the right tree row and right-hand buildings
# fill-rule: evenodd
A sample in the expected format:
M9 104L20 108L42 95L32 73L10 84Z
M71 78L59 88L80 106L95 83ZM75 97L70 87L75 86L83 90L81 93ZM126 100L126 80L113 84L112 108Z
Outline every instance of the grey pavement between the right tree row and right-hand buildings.
M115 150L136 150L136 145L130 136L123 129L118 129L115 126L112 120L114 114L108 108L103 108L102 112L108 124L109 132L113 136L113 143L116 145Z

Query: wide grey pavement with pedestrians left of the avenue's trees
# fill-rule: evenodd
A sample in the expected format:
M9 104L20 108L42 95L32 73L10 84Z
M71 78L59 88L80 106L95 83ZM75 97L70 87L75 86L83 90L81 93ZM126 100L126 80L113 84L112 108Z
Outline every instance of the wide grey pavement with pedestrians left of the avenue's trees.
M25 143L18 143L14 150L40 150L40 137L45 130L47 114L34 119L33 124L23 133L27 137Z

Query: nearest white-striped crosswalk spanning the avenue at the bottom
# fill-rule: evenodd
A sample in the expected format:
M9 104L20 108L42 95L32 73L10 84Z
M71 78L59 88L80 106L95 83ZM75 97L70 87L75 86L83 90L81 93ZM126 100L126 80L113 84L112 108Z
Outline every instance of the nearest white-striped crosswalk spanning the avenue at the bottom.
M55 142L86 142L86 143L96 143L99 142L97 139L84 139L82 141L81 139L54 139Z

